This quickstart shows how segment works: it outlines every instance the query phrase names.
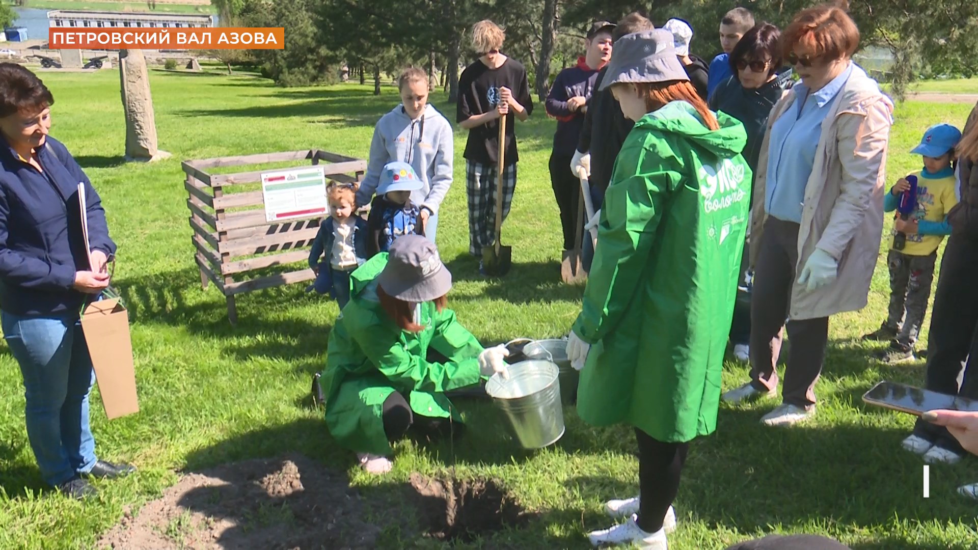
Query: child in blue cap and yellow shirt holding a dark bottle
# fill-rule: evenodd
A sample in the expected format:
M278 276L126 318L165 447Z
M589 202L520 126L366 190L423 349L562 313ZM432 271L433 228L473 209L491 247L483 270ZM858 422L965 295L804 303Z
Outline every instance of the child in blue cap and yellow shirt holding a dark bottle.
M955 178L955 146L961 131L951 124L936 124L927 128L920 145L911 154L923 156L923 169L911 172L916 176L916 206L908 219L896 216L893 235L907 236L902 250L891 243L890 311L886 321L864 340L890 341L890 347L879 358L887 363L913 361L916 344L930 287L934 281L937 249L945 235L951 235L948 212L957 204ZM908 179L901 178L886 194L884 209L892 212L900 204L900 196L911 188Z

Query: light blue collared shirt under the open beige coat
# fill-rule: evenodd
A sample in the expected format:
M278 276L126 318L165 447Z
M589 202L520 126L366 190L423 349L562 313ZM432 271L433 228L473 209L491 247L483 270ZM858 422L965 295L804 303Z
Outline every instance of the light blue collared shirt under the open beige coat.
M801 223L805 186L815 165L822 121L854 67L849 64L848 69L818 92L811 93L801 82L791 88L794 104L771 127L764 203L769 215L781 221Z

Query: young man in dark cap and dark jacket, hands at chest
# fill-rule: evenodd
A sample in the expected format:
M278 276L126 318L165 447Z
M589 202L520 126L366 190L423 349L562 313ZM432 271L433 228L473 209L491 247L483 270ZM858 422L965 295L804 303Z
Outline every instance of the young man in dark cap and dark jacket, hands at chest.
M591 103L598 71L611 59L611 30L614 23L594 23L588 30L585 56L577 66L561 70L547 96L547 114L556 118L554 151L551 153L551 186L556 206L560 210L563 228L563 250L574 248L577 230L577 208L581 200L578 175L570 169L571 159L584 127L584 115Z

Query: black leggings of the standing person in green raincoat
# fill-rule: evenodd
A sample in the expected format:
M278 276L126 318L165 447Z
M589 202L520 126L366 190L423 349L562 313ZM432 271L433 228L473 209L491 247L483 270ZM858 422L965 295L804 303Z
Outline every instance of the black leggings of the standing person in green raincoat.
M635 439L639 443L639 494L642 497L636 523L645 532L655 532L662 528L662 520L679 492L689 442L664 443L638 428L635 429Z

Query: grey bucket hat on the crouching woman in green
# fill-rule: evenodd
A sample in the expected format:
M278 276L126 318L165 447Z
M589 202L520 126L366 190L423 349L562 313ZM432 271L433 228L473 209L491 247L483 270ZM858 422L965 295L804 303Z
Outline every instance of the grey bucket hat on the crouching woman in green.
M421 235L405 235L394 241L377 280L387 296L405 301L430 301L452 289L452 273L441 262L434 244Z

